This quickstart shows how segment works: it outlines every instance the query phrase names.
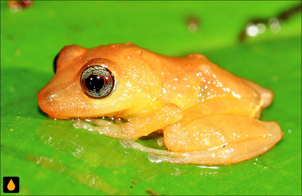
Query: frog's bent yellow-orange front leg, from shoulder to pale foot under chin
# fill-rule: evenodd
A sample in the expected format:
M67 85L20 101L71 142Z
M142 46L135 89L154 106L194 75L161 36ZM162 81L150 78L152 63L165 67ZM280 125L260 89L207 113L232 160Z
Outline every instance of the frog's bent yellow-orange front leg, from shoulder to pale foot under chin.
M138 115L140 117L125 124L118 125L106 120L89 119L98 126L92 126L81 120L74 120L73 126L114 138L137 139L174 124L183 117L182 111L177 105L163 101L153 101L138 113L142 115Z

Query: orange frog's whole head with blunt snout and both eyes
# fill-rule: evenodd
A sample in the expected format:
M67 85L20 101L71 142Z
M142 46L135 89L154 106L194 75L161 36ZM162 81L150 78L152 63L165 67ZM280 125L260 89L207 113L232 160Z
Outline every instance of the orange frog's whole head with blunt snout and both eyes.
M41 110L58 119L100 117L150 103L159 79L140 50L132 43L64 47L55 76L38 93Z

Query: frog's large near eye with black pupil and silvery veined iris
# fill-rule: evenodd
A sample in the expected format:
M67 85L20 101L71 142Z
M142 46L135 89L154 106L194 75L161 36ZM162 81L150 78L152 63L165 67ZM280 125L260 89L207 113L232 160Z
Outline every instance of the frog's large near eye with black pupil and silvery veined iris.
M94 98L106 97L114 87L113 74L102 66L84 69L80 80L84 92Z

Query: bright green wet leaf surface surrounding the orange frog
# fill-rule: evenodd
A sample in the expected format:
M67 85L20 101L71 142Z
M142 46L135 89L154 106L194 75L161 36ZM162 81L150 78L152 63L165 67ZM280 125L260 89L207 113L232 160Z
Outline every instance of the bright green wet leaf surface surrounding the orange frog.
M301 11L280 21L278 33L268 24L301 1L35 1L17 12L6 3L0 7L1 180L20 177L15 195L301 195ZM266 29L247 36L254 19ZM241 42L240 34L246 35ZM40 111L37 92L53 77L62 47L129 41L166 55L205 54L272 89L274 102L261 119L280 124L281 142L218 169L156 164L116 139ZM159 148L152 136L140 143Z

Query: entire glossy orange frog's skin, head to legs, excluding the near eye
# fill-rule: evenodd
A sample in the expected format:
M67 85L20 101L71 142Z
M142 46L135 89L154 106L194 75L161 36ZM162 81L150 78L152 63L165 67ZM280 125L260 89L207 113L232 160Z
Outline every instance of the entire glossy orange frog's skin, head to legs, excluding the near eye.
M89 66L112 72L114 87L92 98L80 77ZM258 120L273 99L271 90L211 63L204 55L170 57L132 43L86 49L64 47L53 79L38 93L42 111L74 120L77 128L120 138L124 147L149 154L153 162L228 165L261 155L281 140L274 122ZM93 117L128 120L110 123ZM162 133L169 150L136 143L138 137Z

